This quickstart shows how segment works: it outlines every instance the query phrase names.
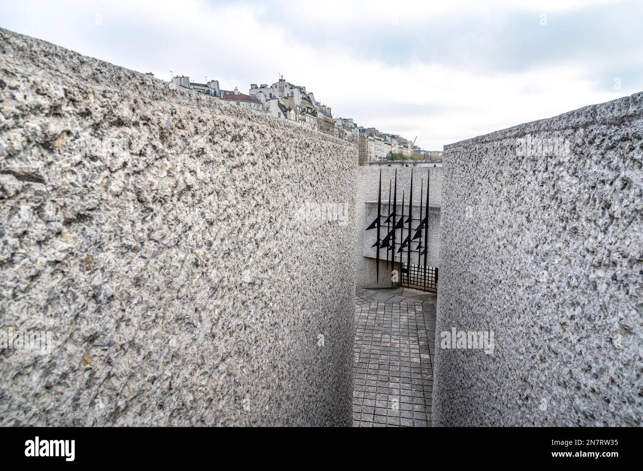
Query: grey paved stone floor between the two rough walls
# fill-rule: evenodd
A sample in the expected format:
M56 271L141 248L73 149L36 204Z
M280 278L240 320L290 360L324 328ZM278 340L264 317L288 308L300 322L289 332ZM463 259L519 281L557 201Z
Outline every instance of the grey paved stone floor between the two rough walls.
M435 303L422 298L400 301L394 298L399 294L388 296L387 291L392 290L374 297L370 290L356 293L353 426L427 427Z

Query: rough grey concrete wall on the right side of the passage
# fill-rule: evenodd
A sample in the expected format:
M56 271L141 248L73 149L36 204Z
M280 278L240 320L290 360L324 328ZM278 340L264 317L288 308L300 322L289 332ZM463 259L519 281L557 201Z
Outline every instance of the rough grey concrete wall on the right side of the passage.
M434 425L641 425L643 94L446 147Z

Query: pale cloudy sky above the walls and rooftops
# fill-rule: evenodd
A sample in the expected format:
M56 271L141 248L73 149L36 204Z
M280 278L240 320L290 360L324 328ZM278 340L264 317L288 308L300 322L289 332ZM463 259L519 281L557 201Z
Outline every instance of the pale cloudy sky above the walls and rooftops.
M640 0L0 0L0 26L163 80L281 73L429 150L643 90Z

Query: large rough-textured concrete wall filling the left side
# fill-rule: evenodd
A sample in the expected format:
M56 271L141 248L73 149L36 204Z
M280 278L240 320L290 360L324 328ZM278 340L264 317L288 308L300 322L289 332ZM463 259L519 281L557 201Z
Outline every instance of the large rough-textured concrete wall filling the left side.
M0 52L0 327L53 332L0 352L0 425L350 425L355 228L293 202L353 221L356 147L6 30Z

